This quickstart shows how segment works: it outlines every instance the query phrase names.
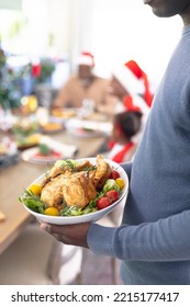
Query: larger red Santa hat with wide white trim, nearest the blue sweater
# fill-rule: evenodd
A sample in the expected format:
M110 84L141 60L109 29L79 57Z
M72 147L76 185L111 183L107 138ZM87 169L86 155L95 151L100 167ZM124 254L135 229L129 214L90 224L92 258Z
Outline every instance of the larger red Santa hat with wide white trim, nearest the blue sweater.
M153 94L149 90L149 82L146 73L141 69L136 61L130 60L123 66L118 67L113 71L114 77L121 82L130 95L135 95L138 93L139 80L144 82L144 100L147 105L152 105Z

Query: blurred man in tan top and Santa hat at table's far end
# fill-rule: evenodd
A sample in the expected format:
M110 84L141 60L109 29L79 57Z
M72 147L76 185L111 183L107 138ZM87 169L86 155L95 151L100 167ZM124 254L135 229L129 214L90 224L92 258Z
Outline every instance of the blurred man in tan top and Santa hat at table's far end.
M113 114L115 96L108 91L110 80L93 72L93 55L81 53L77 65L78 71L60 89L53 109L89 106L100 113Z

